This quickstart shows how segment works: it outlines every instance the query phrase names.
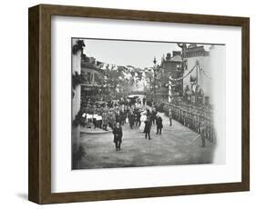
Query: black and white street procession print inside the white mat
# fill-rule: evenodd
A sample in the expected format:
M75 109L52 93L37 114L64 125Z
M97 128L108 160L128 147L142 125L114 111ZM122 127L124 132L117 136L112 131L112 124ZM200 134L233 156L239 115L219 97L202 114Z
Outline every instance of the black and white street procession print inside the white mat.
M225 164L225 47L72 37L72 169Z

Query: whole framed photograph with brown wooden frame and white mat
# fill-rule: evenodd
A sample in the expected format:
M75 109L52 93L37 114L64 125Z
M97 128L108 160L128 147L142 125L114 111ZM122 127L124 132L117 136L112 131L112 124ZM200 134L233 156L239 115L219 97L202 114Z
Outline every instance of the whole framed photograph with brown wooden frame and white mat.
M28 15L30 201L249 191L249 18Z

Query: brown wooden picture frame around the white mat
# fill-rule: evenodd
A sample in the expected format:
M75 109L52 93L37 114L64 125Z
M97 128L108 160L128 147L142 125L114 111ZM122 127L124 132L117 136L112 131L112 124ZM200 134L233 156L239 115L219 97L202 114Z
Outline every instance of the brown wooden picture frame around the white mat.
M210 194L250 189L250 19L107 8L36 5L29 8L29 186L28 199L57 204L180 194ZM51 16L110 18L200 25L241 26L242 136L241 182L196 184L92 192L51 193Z

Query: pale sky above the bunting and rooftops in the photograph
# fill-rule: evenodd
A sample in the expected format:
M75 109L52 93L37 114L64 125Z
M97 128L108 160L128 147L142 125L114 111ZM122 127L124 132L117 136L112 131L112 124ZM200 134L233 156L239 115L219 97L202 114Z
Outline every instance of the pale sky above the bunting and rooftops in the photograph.
M93 56L97 61L113 65L132 65L139 68L153 66L156 57L160 64L163 55L180 50L176 43L141 42L84 39L84 54ZM205 45L208 50L210 45Z

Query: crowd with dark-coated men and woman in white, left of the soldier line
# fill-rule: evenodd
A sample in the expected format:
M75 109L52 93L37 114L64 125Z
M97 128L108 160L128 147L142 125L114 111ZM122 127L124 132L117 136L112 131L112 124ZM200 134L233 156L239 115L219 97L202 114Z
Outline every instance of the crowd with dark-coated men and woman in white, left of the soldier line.
M138 127L140 133L150 140L152 124L157 126L157 134L162 133L162 118L155 108L146 107L146 98L119 98L106 103L96 102L82 108L82 126L92 129L112 130L117 151L122 141L122 125L128 124L130 129Z

